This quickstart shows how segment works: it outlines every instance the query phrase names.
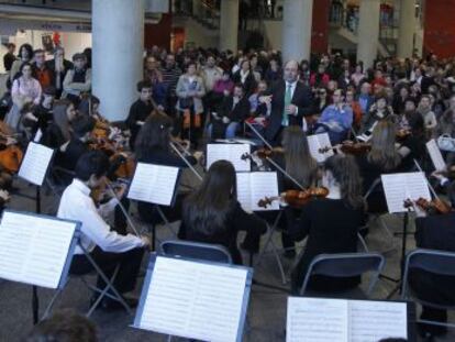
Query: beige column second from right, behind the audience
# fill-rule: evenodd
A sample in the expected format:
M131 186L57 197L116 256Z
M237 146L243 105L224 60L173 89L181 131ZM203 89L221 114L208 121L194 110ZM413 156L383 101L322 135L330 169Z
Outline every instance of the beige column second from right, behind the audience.
M357 60L363 60L365 68L373 66L378 53L379 13L379 0L360 0Z

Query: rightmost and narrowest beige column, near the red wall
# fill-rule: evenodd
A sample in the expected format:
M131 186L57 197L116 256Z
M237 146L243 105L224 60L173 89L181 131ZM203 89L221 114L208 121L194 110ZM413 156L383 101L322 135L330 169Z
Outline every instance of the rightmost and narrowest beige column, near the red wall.
M400 22L398 29L397 56L412 57L415 32L415 0L400 1Z

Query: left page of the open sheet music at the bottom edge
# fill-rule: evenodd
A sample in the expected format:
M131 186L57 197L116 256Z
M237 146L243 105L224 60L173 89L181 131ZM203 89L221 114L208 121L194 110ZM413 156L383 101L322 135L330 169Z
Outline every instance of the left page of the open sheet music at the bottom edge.
M288 297L286 342L348 342L347 300Z

